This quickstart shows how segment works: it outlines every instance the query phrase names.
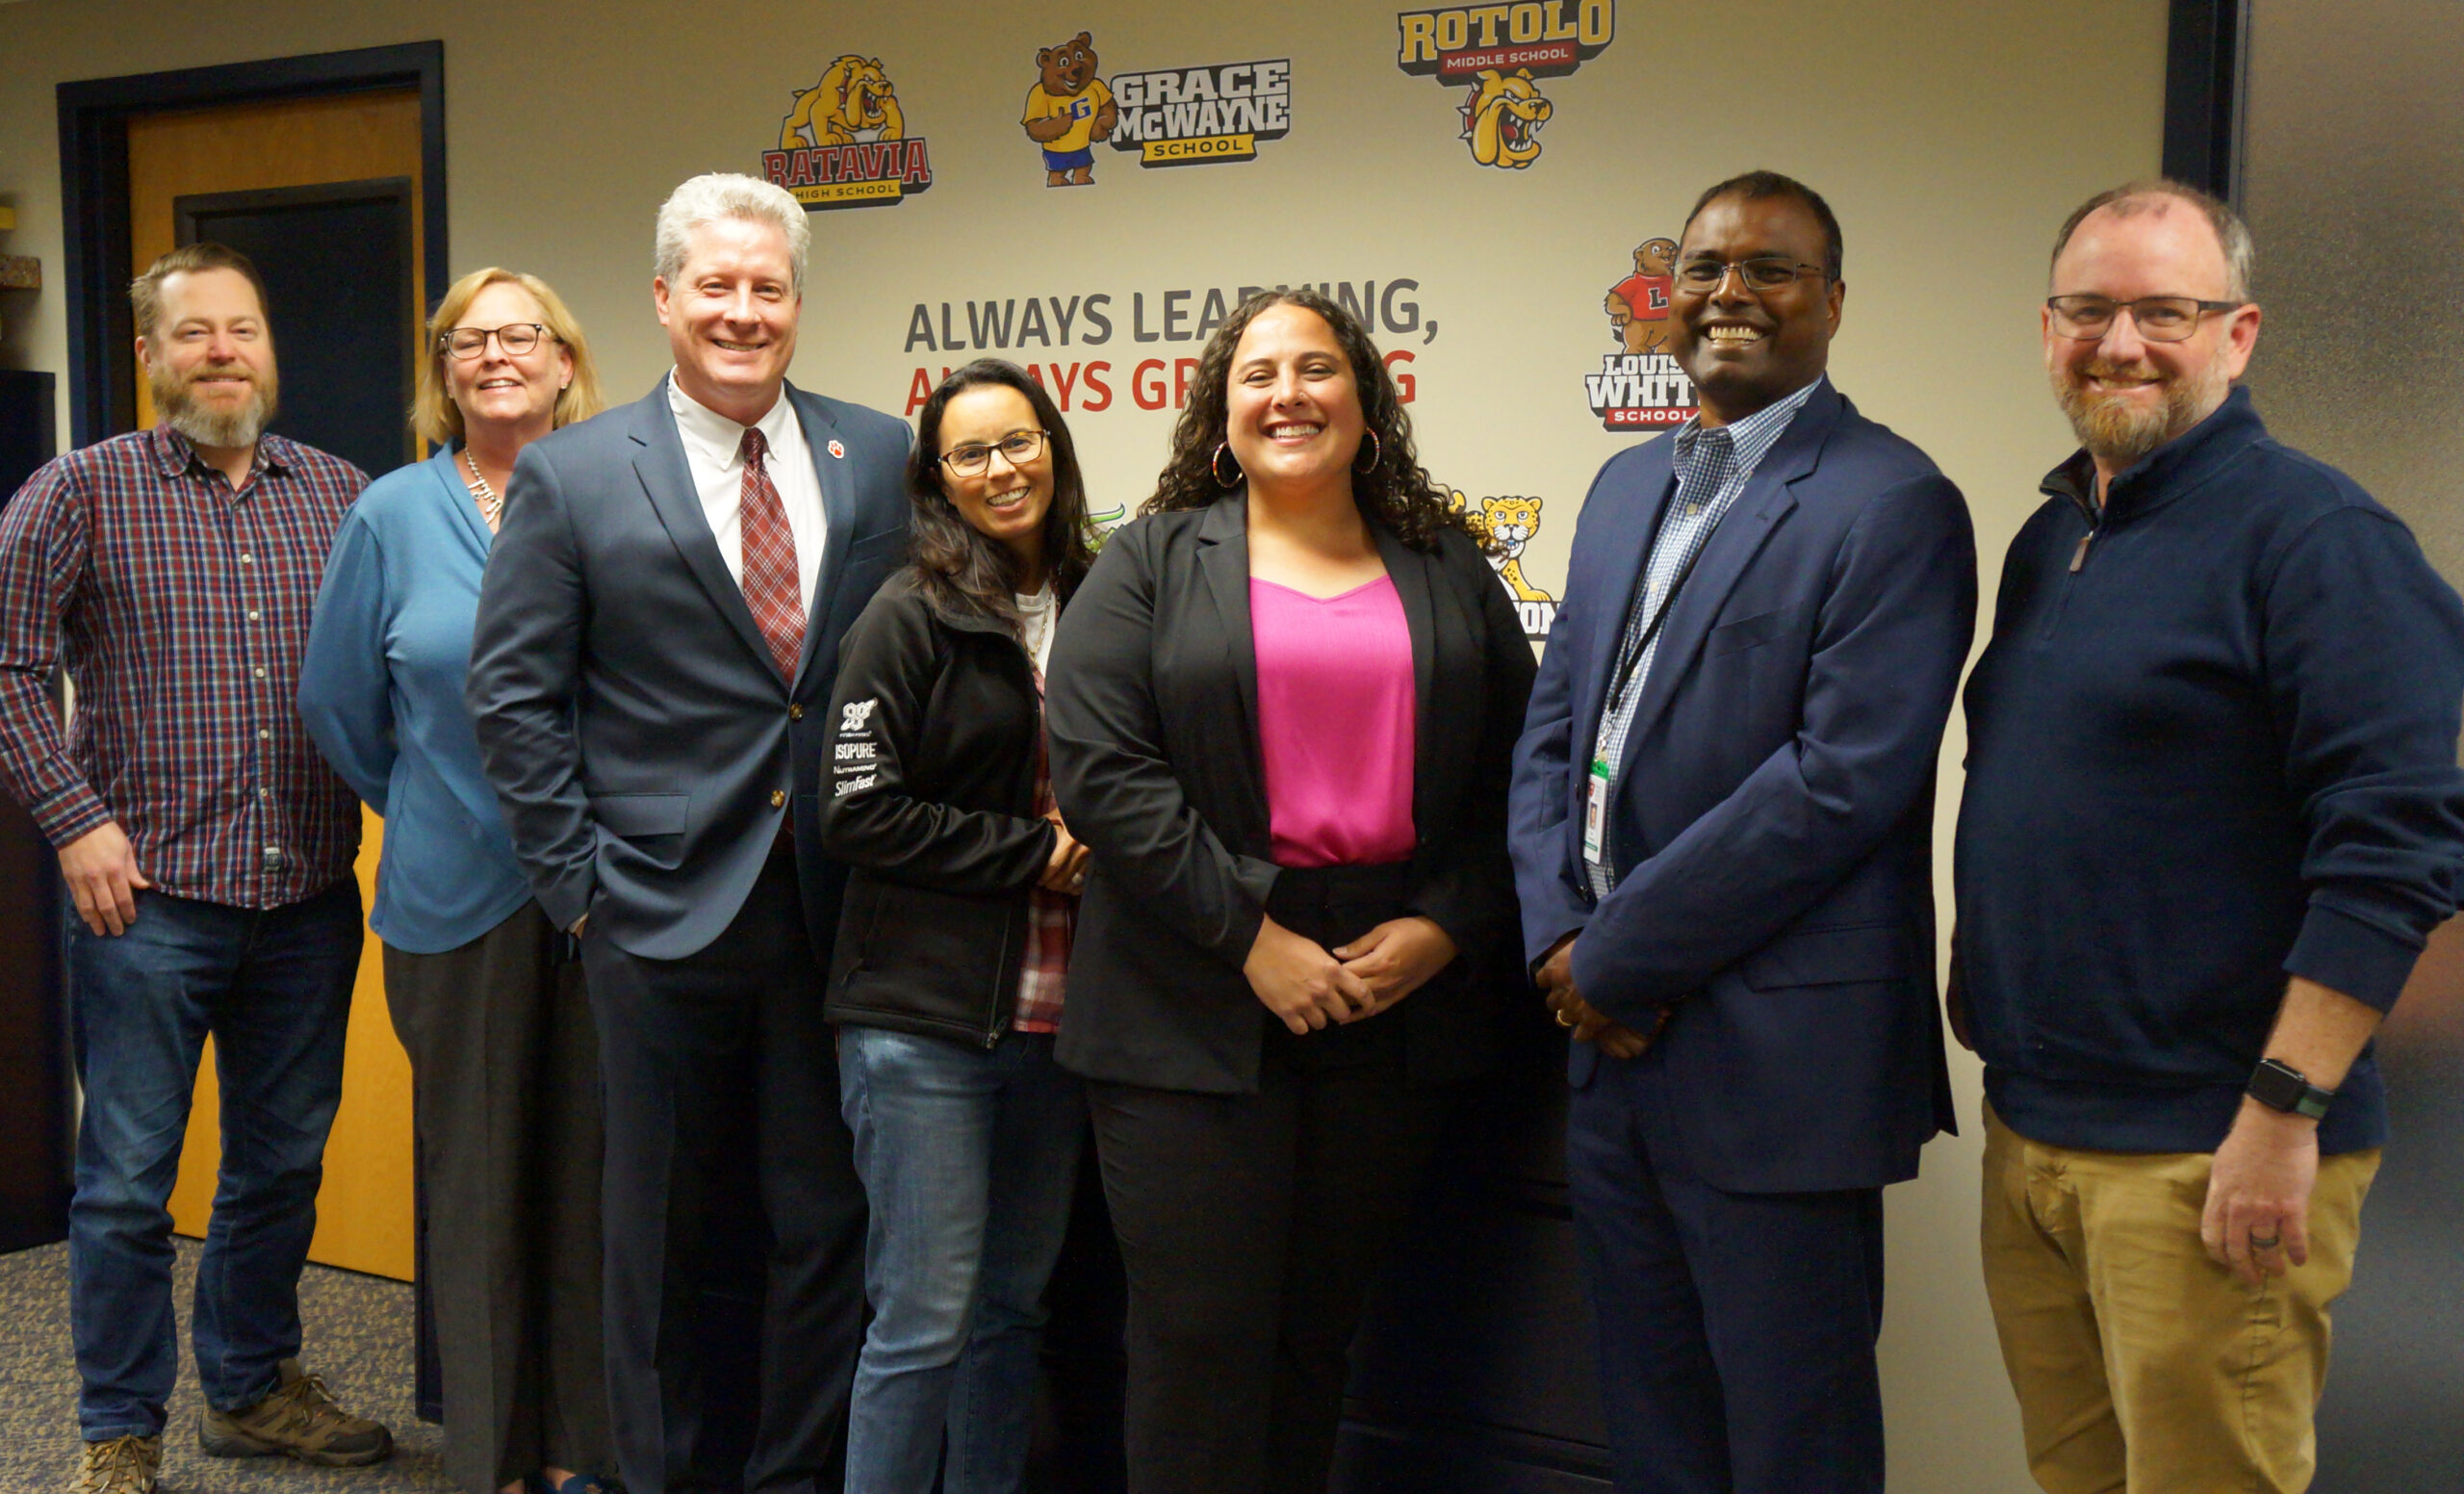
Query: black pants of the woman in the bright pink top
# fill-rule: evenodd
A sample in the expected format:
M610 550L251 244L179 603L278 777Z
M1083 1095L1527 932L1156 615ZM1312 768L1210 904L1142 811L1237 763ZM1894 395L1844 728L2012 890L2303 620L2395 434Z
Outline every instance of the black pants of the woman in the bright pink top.
M1400 868L1286 870L1269 912L1335 947L1400 897ZM1129 1272L1131 1494L1326 1492L1353 1331L1451 1100L1407 1080L1400 1011L1296 1038L1259 1006L1257 1095L1087 1087Z

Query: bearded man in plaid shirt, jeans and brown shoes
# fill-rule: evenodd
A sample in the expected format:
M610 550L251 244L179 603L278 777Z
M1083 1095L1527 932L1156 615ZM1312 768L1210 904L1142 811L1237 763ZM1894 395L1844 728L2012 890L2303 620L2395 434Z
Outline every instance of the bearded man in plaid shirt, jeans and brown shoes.
M298 1277L360 969L360 809L293 708L325 550L367 473L283 436L264 281L219 244L131 286L163 424L0 513L0 784L59 848L86 1092L69 1206L84 1457L145 1494L180 1371L170 1201L214 1038L222 1176L195 1349L214 1457L392 1452L301 1371ZM52 683L76 683L62 722Z

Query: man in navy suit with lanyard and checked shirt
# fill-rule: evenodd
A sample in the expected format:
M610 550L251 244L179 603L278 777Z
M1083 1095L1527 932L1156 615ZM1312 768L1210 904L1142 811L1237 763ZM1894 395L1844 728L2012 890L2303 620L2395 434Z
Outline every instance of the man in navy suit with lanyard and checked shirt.
M1882 1186L1951 1129L1932 814L1976 542L1823 377L1843 296L1814 190L1695 202L1700 414L1592 483L1515 749L1626 1494L1880 1494Z

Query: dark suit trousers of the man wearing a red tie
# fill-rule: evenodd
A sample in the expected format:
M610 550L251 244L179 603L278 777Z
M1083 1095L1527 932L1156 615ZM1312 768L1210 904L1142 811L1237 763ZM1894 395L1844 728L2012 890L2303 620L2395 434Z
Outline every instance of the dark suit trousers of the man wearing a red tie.
M840 1487L865 1312L865 1191L791 853L727 932L643 959L584 932L606 1080L606 1358L631 1494ZM747 1166L747 1161L752 1166ZM729 1329L752 1262L754 1341ZM722 1432L759 1353L752 1452Z

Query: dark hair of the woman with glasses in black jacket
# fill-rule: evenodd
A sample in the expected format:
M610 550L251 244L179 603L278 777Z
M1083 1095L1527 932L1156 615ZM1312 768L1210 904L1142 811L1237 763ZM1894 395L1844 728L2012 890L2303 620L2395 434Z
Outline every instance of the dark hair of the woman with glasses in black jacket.
M1018 557L966 523L941 491L941 412L958 394L988 385L1025 394L1035 424L1045 429L1045 449L1052 454L1052 505L1045 510L1045 572L1052 577L1052 597L1069 602L1087 579L1094 540L1087 523L1087 478L1079 473L1069 424L1027 370L1000 357L978 357L954 370L917 412L917 444L907 454L907 547L926 602L961 616L973 611L1018 626Z

